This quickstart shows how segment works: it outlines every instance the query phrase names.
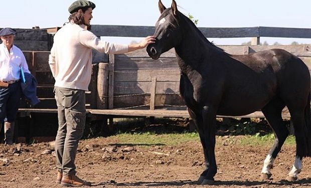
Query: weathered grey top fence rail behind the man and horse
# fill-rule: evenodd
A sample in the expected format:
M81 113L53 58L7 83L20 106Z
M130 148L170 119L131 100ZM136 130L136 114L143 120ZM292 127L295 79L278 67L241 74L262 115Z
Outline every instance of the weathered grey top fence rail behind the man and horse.
M252 45L259 45L260 37L311 38L311 29L305 28L199 28L207 38L244 38L251 37ZM111 26L92 25L96 36L106 37L145 37L153 35L152 26Z

